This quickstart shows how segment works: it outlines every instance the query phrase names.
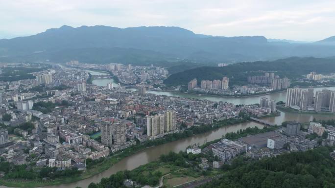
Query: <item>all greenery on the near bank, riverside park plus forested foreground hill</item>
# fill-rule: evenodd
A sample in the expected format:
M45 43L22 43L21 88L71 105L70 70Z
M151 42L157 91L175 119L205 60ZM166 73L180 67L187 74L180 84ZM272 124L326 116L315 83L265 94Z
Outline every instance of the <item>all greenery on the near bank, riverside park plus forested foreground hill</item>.
M250 128L235 133L234 138L243 137L246 132L256 134L264 131L270 130ZM231 133L227 133L224 138L230 135ZM170 152L161 155L158 161L102 178L99 183L91 183L88 188L125 188L123 182L126 179L137 182L139 187L154 187L159 185L163 176L164 185L160 185L162 188L175 186L176 180L182 179L185 183L190 179L200 180L217 176L220 178L213 179L201 188L334 188L335 161L329 155L333 149L321 146L305 152L286 153L259 161L239 156L230 165L207 170L201 169L199 164L201 158L206 158L210 163L218 160L211 150L201 154Z

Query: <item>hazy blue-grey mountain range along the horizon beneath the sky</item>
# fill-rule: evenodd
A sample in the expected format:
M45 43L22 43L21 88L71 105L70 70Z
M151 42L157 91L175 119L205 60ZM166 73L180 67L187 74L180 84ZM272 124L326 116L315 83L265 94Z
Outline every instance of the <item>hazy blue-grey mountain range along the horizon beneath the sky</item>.
M291 56L333 57L335 37L311 42L267 40L263 36L217 37L180 27L64 25L28 37L0 40L0 60L133 63L191 60L202 63L276 60Z

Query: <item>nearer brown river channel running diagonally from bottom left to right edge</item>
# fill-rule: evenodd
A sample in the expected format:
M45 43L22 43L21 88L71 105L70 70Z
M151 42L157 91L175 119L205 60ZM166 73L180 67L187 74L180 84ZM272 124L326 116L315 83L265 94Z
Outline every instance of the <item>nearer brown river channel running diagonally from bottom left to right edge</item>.
M332 119L335 118L332 115L320 115L320 114L296 114L296 113L289 113L289 112L281 112L280 116L277 117L267 117L264 120L276 123L280 125L283 121L299 121L299 122L309 122L313 118L316 119ZM255 123L255 122L246 122L237 125L230 125L221 127L219 129L194 135L190 138L174 141L171 143L163 144L160 146L154 146L146 148L134 155L126 157L122 159L119 163L115 164L114 166L110 167L108 170L101 172L93 177L90 177L85 180L81 180L78 182L74 182L71 184L63 184L58 186L46 186L43 188L75 188L75 187L82 187L87 188L91 182L99 182L103 177L109 177L111 174L114 174L120 170L131 170L141 165L147 164L148 162L155 161L159 158L161 154L167 154L170 151L179 152L180 150L185 150L187 146L192 144L204 144L205 141L212 141L222 137L222 135L226 134L227 132L236 132L239 129L245 129L247 127L257 126L262 128L263 125ZM2 187L0 187L2 188Z

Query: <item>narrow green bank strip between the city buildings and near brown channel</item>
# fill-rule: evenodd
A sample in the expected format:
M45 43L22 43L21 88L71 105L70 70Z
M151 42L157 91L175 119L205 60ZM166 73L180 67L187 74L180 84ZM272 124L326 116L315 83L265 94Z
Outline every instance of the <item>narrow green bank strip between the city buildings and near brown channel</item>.
M212 125L200 125L200 126L192 126L190 128L185 129L183 132L177 132L177 133L172 133L168 134L163 138L159 138L153 141L147 141L143 144L138 144L136 146L131 146L127 149L124 149L118 153L115 153L113 156L110 156L106 158L104 161L102 161L99 164L96 164L94 167L90 169L86 169L80 176L77 177L71 177L71 178L59 178L55 179L52 181L29 181L29 180L5 180L5 179L0 179L0 184L4 185L6 187L15 187L15 188L35 188L35 187L42 187L42 186L56 186L60 184L69 184L73 182L77 182L80 180L84 180L87 178L90 178L92 176L95 176L116 163L120 162L122 159L133 155L135 153L138 153L148 147L152 146L159 146L163 144L167 144L169 142L189 138L191 136L201 134L201 133L206 133L212 130L216 130L218 128L224 127L224 126L229 126L229 125L236 125L240 123L245 123L247 122L247 119L227 119L223 121L218 121L215 122Z

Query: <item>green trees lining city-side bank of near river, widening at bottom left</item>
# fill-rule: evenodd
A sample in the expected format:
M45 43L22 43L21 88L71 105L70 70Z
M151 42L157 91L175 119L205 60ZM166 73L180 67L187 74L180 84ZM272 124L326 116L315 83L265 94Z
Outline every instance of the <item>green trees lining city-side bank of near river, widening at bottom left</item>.
M217 121L212 125L199 125L199 126L191 126L190 128L185 128L182 132L168 134L162 138L146 141L144 143L140 143L137 141L137 145L126 148L117 153L111 153L108 157L103 157L98 160L87 160L87 169L84 171L77 171L76 173L71 173L71 175L64 176L48 176L48 178L39 174L39 171L46 168L38 168L35 166L35 162L33 158L29 158L31 162L26 165L13 165L7 168L7 170L3 170L5 173L4 177L0 178L0 185L5 185L8 187L24 187L24 188L32 188L32 187L41 187L46 185L59 185L64 183L71 183L75 181L79 181L93 175L96 175L104 170L107 170L109 167L118 163L121 159L128 157L140 150L143 150L150 146L158 146L168 142L173 142L179 139L188 138L195 134L200 134L204 132L208 132L223 126L234 125L243 123L249 120L248 116L241 115L240 118L230 118L222 121ZM35 166L34 168L31 168ZM71 170L76 171L76 168L71 168ZM12 176L8 174L17 173L20 174L18 176ZM50 171L50 173L53 173ZM47 179L47 180L44 180ZM15 180L15 181L14 181ZM18 181L16 181L18 180ZM22 181L24 180L24 181Z

